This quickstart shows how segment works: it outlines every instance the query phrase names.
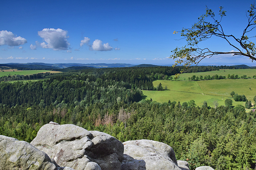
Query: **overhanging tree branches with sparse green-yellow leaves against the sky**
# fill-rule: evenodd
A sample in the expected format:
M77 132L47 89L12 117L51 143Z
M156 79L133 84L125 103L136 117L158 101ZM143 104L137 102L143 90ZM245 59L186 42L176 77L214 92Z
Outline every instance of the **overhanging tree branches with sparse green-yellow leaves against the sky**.
M251 36L252 31L256 27L256 6L251 4L250 9L247 11L246 17L248 24L243 30L241 37L235 37L232 34L226 33L221 22L226 15L226 11L223 7L220 7L219 15L220 19L217 20L215 13L208 9L206 6L206 14L198 18L198 22L193 24L191 28L183 28L181 31L174 31L176 34L181 33L181 36L187 40L187 45L181 48L173 49L170 58L175 59L174 66L183 64L186 69L192 64L197 65L202 59L210 58L218 54L233 54L249 57L252 61L256 60L256 46L251 41L256 36ZM212 22L208 22L208 19ZM234 48L232 51L212 51L210 48L200 48L199 43L210 39L211 37L219 37L224 39L230 46Z

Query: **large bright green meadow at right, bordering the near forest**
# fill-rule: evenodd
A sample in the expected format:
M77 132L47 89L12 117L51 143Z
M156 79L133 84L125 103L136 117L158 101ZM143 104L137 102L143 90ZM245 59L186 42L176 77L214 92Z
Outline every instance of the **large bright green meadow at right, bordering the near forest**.
M153 82L154 87L156 87L159 83L162 84L163 88L167 86L168 90L143 90L145 99L152 98L154 101L158 102L168 102L168 100L176 102L180 101L181 103L185 101L188 102L193 99L196 105L201 107L204 101L207 101L209 106L213 106L213 102L216 100L218 101L219 105L224 105L225 99L232 99L230 96L232 91L238 95L245 95L247 99L251 100L253 103L253 98L256 96L256 79L253 78L202 81L156 80ZM245 102L236 102L233 100L233 105L237 104L244 105Z

